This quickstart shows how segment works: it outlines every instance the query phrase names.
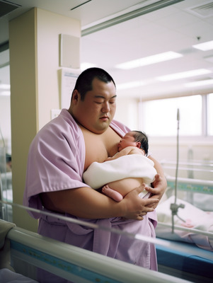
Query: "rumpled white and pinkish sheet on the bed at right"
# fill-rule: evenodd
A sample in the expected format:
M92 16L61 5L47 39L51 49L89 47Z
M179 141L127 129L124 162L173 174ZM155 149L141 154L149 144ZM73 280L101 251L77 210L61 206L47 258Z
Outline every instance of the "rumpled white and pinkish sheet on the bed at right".
M161 226L156 227L156 236L159 238L165 238L173 241L184 241L188 243L195 243L200 248L213 251L213 212L204 212L202 209L198 209L192 204L185 202L184 200L177 199L177 204L184 204L184 208L178 209L178 216L174 216L175 226L182 226L188 229L197 229L204 232L212 233L212 236L202 235L201 233L195 233L181 230L174 230L172 233L172 213L171 204L175 202L175 197L170 197L168 200L161 202L156 208L158 215L158 221L162 224L168 224L168 228Z

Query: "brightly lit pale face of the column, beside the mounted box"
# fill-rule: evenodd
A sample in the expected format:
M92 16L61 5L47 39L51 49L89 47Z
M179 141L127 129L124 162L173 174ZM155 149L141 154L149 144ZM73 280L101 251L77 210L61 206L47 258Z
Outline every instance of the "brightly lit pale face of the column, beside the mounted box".
M81 23L37 8L38 40L38 128L51 118L51 109L59 109L59 35L81 37ZM70 50L79 54L79 50ZM67 105L69 108L69 105Z

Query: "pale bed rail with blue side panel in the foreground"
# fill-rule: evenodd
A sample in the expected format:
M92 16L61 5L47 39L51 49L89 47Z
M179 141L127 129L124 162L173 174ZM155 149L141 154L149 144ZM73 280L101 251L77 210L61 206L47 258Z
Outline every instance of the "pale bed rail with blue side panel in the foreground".
M0 225L4 222L1 220ZM73 282L188 282L54 241L16 226L11 227L8 231L6 240L10 242L11 262L17 259L30 262L30 265L40 267ZM162 245L163 241L159 241L159 244Z

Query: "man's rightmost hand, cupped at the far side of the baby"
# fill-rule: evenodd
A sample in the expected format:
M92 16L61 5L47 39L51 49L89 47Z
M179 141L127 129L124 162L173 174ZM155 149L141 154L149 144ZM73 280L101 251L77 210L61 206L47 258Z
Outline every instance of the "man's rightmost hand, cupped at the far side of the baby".
M155 176L155 180L152 183L152 185L154 187L148 187L146 185L145 190L147 190L147 192L151 192L152 196L149 199L158 199L161 200L161 197L163 197L163 193L166 190L166 178L162 178L161 175L156 174ZM156 206L158 205L158 203L154 204L152 207L156 208Z

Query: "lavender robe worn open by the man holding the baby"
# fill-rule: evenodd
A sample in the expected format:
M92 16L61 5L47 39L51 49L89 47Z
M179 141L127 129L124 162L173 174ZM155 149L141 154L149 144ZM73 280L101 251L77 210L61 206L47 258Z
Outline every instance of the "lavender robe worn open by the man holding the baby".
M112 127L122 137L129 129L112 121ZM83 183L85 144L80 127L65 109L40 129L30 145L27 178L23 204L35 209L42 207L40 193L88 187ZM156 250L153 244L133 240L117 233L91 229L79 224L29 212L39 219L38 233L42 236L92 250L118 260L157 270ZM76 216L64 214L75 219ZM156 212L149 212L142 221L110 219L80 219L109 229L127 233L140 233L155 237Z

